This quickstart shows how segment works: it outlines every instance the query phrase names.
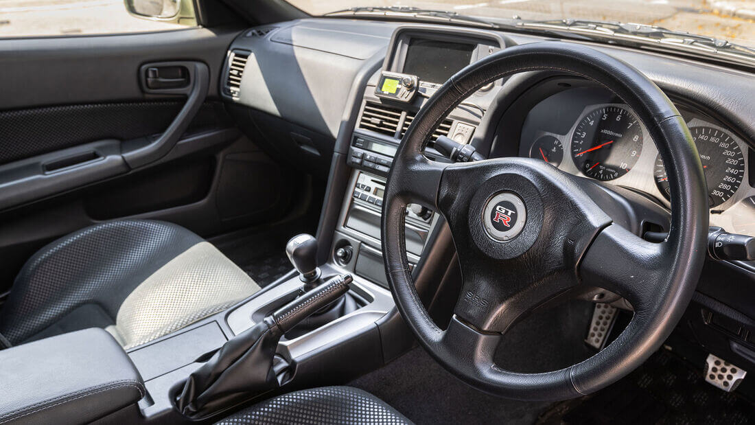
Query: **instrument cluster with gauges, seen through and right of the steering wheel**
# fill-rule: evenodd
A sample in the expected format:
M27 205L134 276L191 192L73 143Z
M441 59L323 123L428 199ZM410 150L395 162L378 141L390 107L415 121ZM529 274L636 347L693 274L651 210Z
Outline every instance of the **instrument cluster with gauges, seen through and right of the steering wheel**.
M716 119L677 108L700 152L710 226L755 236L753 150ZM522 125L518 155L643 192L670 208L666 170L647 128L604 88L570 88L537 103Z

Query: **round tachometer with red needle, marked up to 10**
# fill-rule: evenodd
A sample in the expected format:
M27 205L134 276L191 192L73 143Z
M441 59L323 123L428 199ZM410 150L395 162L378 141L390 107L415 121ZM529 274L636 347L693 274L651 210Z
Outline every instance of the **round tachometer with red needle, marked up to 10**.
M598 180L627 174L643 150L643 130L621 106L603 106L587 114L572 136L572 159L577 168Z

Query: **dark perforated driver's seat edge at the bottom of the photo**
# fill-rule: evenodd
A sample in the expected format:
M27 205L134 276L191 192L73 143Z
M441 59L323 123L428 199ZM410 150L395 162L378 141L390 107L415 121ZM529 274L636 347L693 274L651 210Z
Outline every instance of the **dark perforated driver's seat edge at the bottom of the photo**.
M239 411L220 425L411 423L381 399L352 387L322 387L284 394Z

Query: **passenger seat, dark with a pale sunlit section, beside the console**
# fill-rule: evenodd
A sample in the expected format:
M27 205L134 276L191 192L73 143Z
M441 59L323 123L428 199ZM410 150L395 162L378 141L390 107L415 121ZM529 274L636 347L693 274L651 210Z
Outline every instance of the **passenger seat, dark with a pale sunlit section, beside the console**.
M19 344L97 327L128 349L259 290L181 226L111 221L57 239L26 261L0 313L0 333Z

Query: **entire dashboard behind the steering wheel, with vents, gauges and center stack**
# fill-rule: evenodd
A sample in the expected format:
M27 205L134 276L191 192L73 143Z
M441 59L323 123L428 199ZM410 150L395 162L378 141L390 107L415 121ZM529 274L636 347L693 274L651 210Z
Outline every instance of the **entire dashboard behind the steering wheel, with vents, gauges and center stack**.
M362 274L377 281L384 276L381 191L418 111L461 67L500 49L543 39L430 23L335 18L276 23L236 38L227 52L221 96L254 143L278 152L292 170L328 182L320 235L330 249L323 251L341 266L372 270ZM755 236L753 74L655 51L587 44L630 63L676 103L705 167L710 225ZM399 79L387 84L386 74L413 75L414 96L380 96L379 91L399 91ZM432 141L441 135L489 152L489 157L540 159L672 207L665 168L649 131L611 91L574 75L513 75L480 88L436 128L426 150L436 160L442 158ZM408 238L414 241L407 242L414 247L408 258L420 266L424 250L436 244L434 225L427 225L442 219L422 208L407 217L412 223ZM661 230L650 226L648 233ZM341 239L351 242L351 251ZM709 257L686 325L680 326L690 333L684 338L717 356L741 359L732 353L731 341L747 346L755 358L752 282L755 261Z

